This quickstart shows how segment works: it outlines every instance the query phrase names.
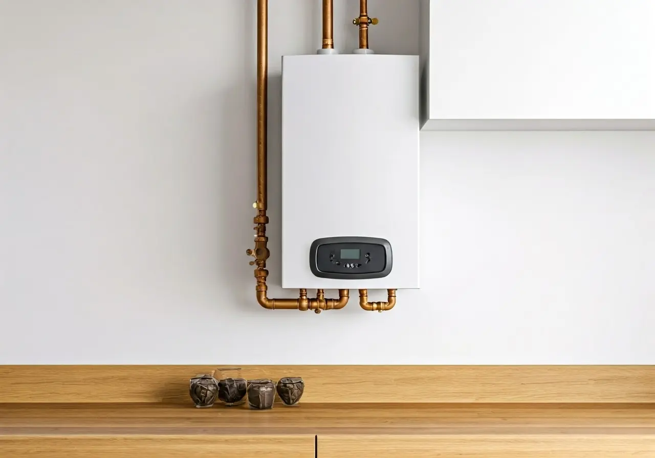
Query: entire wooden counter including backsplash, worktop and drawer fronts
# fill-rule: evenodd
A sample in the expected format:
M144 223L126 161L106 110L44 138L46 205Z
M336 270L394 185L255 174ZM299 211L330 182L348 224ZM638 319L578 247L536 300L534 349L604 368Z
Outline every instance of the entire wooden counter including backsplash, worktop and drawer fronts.
M194 408L210 370L0 366L0 456L655 457L655 366L244 366L305 379L266 411Z

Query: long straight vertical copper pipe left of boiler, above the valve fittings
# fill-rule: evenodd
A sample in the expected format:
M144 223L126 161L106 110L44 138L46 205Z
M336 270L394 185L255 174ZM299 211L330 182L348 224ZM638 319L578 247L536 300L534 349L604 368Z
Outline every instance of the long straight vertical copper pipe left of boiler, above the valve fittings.
M266 216L267 204L267 141L269 92L269 5L257 0L257 209Z

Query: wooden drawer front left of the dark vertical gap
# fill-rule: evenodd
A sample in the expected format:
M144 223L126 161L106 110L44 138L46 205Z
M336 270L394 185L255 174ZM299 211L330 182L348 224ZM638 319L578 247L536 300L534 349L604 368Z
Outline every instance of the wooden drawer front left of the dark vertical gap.
M314 436L0 436L2 457L314 457Z

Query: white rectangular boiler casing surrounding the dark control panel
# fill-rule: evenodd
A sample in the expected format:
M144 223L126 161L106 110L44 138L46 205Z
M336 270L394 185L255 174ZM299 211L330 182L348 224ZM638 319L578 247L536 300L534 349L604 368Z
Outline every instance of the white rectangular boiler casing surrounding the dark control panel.
M390 272L316 276L312 242L343 237L388 241ZM417 56L282 58L282 287L419 287Z

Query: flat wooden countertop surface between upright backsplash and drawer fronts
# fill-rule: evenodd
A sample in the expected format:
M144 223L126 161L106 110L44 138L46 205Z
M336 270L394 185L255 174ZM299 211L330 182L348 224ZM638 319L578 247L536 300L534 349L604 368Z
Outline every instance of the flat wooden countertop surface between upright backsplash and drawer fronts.
M0 404L26 434L655 434L655 404Z

